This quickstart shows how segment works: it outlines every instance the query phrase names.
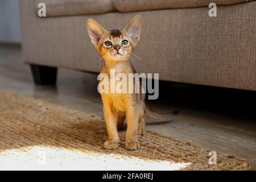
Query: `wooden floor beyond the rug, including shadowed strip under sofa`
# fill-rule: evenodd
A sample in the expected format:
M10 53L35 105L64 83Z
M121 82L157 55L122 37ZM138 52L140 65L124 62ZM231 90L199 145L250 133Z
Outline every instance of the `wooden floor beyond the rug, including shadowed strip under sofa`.
M0 88L103 116L97 75L59 69L56 86L35 86L19 46L0 44ZM256 169L256 92L172 82L160 82L159 91L148 105L180 114L147 130L249 159Z

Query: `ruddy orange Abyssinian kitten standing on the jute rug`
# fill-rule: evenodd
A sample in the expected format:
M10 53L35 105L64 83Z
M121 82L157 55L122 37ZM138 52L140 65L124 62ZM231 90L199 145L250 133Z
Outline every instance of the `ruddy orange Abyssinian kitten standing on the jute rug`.
M133 54L139 41L141 16L134 16L123 30L107 31L93 19L88 19L86 26L94 47L105 61L101 73L110 75L110 69L114 69L115 74L135 73L129 62L129 56ZM176 111L167 115L152 113L145 105L145 94L141 92L101 93L101 98L109 135L109 140L104 143L104 147L110 150L119 146L118 130L123 128L125 118L127 119L125 148L137 150L141 148L137 135L143 135L146 132L146 114L160 122L170 121L177 114Z

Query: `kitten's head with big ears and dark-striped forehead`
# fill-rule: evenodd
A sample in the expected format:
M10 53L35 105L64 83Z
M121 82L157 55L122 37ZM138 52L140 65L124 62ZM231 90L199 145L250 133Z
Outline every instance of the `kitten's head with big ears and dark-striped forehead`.
M126 61L139 41L141 16L134 16L123 30L106 31L95 20L88 19L86 26L93 45L104 60Z

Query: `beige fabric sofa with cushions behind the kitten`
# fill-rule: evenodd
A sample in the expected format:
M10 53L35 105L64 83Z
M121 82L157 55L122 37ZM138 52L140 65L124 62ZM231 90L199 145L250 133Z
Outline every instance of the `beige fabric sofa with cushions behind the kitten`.
M37 16L45 2L47 17ZM217 4L217 17L208 15ZM24 61L99 72L86 19L125 27L139 14L138 72L160 80L256 90L256 2L246 0L22 0Z

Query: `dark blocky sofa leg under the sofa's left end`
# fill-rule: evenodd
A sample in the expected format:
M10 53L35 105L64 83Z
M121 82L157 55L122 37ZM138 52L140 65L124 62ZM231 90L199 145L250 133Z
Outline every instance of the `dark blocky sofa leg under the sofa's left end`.
M57 68L30 64L31 72L36 85L55 85Z

